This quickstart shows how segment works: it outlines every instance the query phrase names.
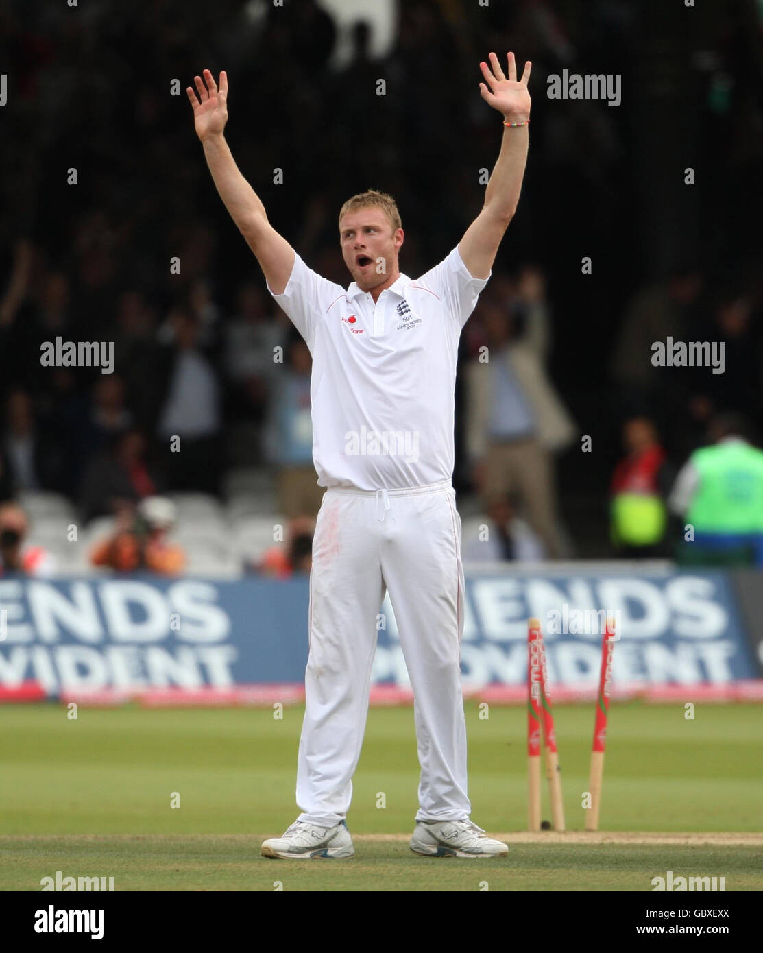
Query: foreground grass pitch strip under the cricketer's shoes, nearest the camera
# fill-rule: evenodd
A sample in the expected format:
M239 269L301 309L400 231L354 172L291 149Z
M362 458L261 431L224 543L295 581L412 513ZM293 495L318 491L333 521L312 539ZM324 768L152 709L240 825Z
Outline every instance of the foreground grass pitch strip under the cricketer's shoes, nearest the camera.
M581 845L553 837L516 843L509 835L508 858L472 861L417 857L409 837L355 836L356 856L344 861L269 861L259 856L260 838L246 835L2 838L0 889L39 890L57 870L110 876L117 890L630 891L651 890L652 878L668 870L723 876L727 890L763 888L763 838L745 846L655 845L593 835Z

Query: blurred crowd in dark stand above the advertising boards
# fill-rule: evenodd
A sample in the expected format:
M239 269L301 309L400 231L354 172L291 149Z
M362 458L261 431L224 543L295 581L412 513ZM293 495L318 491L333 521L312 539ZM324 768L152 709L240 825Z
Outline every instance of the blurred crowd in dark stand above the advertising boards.
M703 61L693 93L697 123L713 120L730 146L718 154L701 136L693 145L697 164L712 158L719 179L744 170L754 191L763 147L745 133L763 128L761 19L746 0L721 7L715 58ZM184 93L204 67L229 73L228 139L273 225L346 286L336 214L369 187L398 201L406 274L451 250L479 210L479 172L499 145L477 64L493 49L532 59L520 210L459 354L454 483L465 558L682 558L690 517L700 541L703 520L718 517L697 502L698 475L716 465L695 455L711 445L744 471L739 498L763 492L763 254L745 224L760 196L745 209L704 193L700 224L720 258L703 257L690 236L647 267L633 103L544 97L545 77L564 68L616 70L625 89L637 82L638 5L390 8L387 55L371 57L371 28L358 21L341 67L337 25L316 0L0 10L11 133L0 176L0 571L50 572L26 505L46 493L68 501L55 511L62 519L103 527L90 539L90 565L192 570L176 531L203 510L216 529L193 545L214 552L242 518L257 517L258 544L228 556L278 578L309 569L322 494L311 463L311 355L211 185ZM171 95L175 78L180 96ZM599 289L585 300L579 276L568 280L584 246L595 264L582 280ZM653 342L669 336L724 341L724 373L654 366ZM41 343L57 339L112 342L113 373L42 366ZM740 445L750 450L744 461ZM184 508L184 494L216 502ZM729 536L733 558L753 559L763 532L755 506L744 525L711 527ZM268 540L262 525L273 523L282 532ZM67 560L59 556L59 572Z

